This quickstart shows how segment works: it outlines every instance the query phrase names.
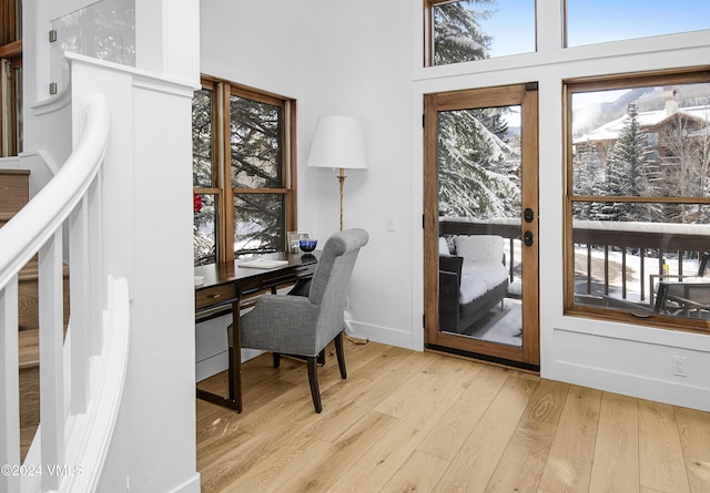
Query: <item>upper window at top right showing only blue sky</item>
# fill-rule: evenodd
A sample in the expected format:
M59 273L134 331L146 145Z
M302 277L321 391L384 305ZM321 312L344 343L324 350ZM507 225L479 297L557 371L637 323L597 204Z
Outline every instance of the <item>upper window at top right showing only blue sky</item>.
M710 2L566 0L567 47L710 29Z

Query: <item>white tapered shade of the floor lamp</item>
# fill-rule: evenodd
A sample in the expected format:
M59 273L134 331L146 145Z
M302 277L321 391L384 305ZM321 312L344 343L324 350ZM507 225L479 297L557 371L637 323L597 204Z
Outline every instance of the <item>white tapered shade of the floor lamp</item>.
M318 116L308 166L366 168L367 147L362 121L354 116Z

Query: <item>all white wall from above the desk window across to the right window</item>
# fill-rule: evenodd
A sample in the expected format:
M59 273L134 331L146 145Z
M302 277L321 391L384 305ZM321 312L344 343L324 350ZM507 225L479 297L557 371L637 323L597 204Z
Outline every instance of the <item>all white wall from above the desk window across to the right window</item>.
M357 336L423 348L423 95L539 82L541 374L710 410L710 336L562 315L562 81L692 66L710 32L562 50L560 8L537 2L538 52L423 69L422 2L202 3L202 71L298 100L300 227L337 229L334 175L305 158L318 114L364 120L371 166L345 182L345 226L372 235L351 288ZM264 33L264 25L278 29ZM264 42L264 39L266 42ZM232 47L226 50L224 47ZM244 47L239 49L237 47ZM305 202L305 206L304 206ZM394 217L397 230L386 230ZM671 356L689 376L672 377Z

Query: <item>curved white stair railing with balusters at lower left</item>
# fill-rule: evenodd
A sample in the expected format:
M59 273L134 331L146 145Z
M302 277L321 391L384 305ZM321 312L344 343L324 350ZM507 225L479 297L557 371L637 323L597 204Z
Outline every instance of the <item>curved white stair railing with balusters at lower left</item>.
M110 278L98 258L101 165L110 126L104 97L91 99L85 113L84 131L67 163L0 228L0 492L95 491L123 391L128 284ZM65 340L64 234L71 302ZM40 427L20 463L18 273L37 254Z

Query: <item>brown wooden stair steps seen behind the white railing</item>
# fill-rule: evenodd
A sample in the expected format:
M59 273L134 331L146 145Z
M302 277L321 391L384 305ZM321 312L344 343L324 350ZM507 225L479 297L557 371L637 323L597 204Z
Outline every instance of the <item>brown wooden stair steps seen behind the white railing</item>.
M30 172L0 170L0 227L29 201ZM40 422L38 265L32 258L18 276L20 370L20 456L24 460ZM64 333L69 322L69 269L64 266Z

